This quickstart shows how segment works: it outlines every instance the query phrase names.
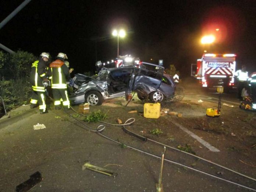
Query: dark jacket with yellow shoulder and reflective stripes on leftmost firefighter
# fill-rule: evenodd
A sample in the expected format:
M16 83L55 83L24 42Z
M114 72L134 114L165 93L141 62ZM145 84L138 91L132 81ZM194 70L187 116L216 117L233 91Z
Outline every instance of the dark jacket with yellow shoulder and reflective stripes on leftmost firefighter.
M47 62L39 59L32 63L30 73L30 83L34 91L45 92L43 87L43 79L46 78Z

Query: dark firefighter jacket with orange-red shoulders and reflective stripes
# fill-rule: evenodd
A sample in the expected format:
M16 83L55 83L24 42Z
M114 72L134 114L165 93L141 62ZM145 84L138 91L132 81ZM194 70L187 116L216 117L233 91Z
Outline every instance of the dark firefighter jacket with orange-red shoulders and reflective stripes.
M63 61L57 59L50 64L48 70L49 79L51 81L51 88L66 89L67 81L70 80L70 73L67 65Z

